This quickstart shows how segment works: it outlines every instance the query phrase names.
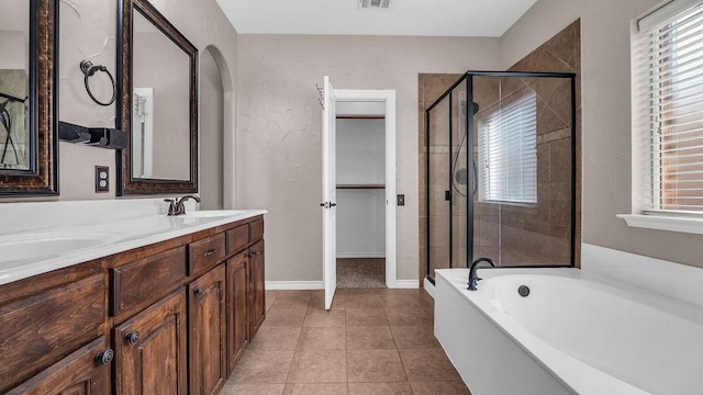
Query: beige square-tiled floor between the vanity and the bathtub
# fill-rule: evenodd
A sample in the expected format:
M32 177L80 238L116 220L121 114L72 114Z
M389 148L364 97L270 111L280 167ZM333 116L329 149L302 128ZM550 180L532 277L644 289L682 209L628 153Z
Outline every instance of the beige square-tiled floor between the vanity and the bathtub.
M267 291L267 318L222 395L470 395L422 290Z

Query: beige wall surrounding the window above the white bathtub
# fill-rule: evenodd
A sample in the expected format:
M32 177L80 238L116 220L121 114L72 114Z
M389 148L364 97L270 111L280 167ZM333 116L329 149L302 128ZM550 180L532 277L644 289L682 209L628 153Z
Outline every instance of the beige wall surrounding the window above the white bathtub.
M631 21L659 0L539 0L501 40L503 68L581 18L582 241L703 267L701 236L631 228Z

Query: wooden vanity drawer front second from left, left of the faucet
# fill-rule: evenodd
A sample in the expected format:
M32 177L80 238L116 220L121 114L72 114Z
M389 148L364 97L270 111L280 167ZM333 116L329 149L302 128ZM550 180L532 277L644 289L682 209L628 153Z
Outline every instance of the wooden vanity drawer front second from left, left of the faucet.
M110 270L113 316L146 307L186 278L186 247L174 248Z

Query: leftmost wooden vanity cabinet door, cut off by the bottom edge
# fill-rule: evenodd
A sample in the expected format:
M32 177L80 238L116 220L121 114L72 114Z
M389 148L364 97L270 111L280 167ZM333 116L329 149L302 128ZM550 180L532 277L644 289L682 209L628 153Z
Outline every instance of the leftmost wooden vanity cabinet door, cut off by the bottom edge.
M99 337L7 395L110 394L112 357L108 340Z

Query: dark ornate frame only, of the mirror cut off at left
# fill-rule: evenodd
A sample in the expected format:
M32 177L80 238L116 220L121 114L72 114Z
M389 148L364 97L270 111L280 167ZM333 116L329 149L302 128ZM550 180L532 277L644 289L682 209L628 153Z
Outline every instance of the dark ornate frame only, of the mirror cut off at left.
M30 0L30 169L0 169L0 196L58 194L58 0Z

